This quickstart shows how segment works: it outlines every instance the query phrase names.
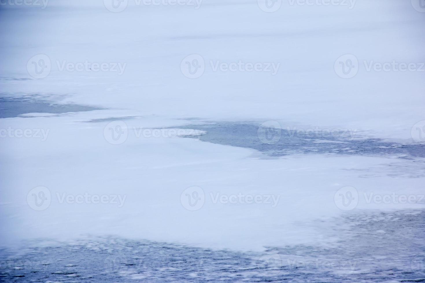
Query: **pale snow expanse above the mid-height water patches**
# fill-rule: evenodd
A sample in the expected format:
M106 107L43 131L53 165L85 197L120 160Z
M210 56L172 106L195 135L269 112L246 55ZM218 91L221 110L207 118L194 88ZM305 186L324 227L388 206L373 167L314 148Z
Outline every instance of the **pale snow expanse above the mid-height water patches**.
M204 0L201 7L137 6L120 13L102 1L50 1L45 9L5 8L0 43L2 91L51 95L55 100L139 110L144 115L211 120L271 120L369 135L411 139L424 120L424 72L367 72L343 79L334 62L354 54L360 62L423 62L423 21L409 1L355 1L348 6L290 5L274 13L256 1ZM21 17L22 15L22 17ZM25 16L23 16L25 15ZM70 24L72 23L72 24ZM28 28L30 27L30 28ZM42 27L42 31L40 29ZM17 32L19 31L19 33ZM25 48L15 48L16 45ZM28 75L31 56L46 54L51 73ZM184 57L206 64L278 62L278 74L213 72L186 78ZM60 71L63 61L127 63L124 73Z

